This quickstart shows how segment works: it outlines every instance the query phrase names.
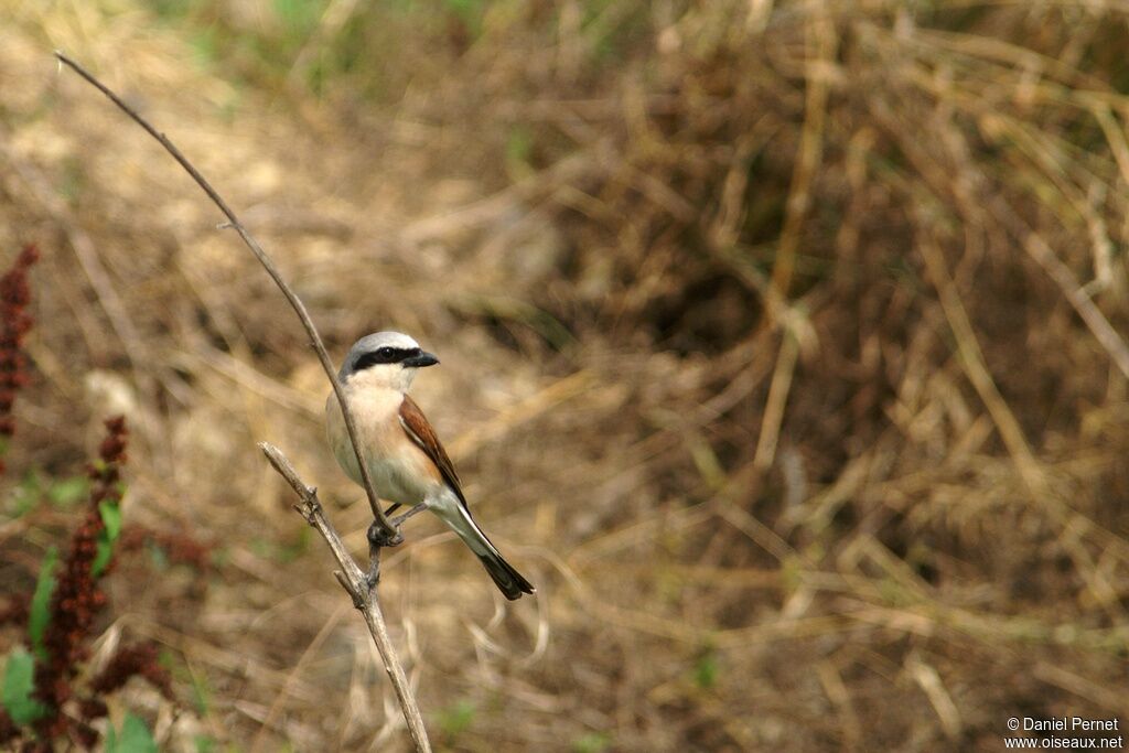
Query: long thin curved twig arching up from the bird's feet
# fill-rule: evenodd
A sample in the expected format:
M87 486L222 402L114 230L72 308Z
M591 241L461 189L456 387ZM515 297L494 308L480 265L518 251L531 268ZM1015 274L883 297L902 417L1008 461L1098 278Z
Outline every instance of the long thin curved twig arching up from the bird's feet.
M361 481L364 481L365 493L368 496L368 504L373 508L373 518L376 520L376 531L384 540L380 543L382 545L385 546L399 544L401 541L403 541L403 537L400 535L400 532L396 531L396 528L388 520L387 516L385 516L384 510L380 509L380 498L377 496L376 490L373 488L373 479L369 476L368 465L365 463L365 458L361 457L360 446L357 441L357 426L356 422L353 421L352 411L349 409L349 404L345 401L344 393L341 391L341 383L338 380L338 376L333 370L333 361L330 360L330 354L325 350L325 344L322 342L322 336L317 333L317 329L314 326L314 321L309 317L309 314L306 312L306 306L301 303L301 299L299 299L298 296L295 295L294 290L290 289L290 286L288 286L286 281L282 280L282 275L281 273L279 273L278 268L274 266L274 262L271 261L271 257L266 255L266 252L263 251L262 246L259 245L259 242L255 240L255 238L251 235L251 233L248 233L247 229L243 227L243 222L240 222L239 218L236 217L234 211L231 211L231 208L227 205L227 202L224 201L224 198L220 196L219 193L216 191L216 189L213 189L211 184L207 181L207 178L204 178L204 176L200 174L200 170L198 170L195 166L193 166L192 163L189 161L189 158L185 157L181 152L181 150L176 148L176 145L174 145L172 141L168 140L168 137L166 137L164 133L155 129L149 123L149 121L142 117L135 110L130 107L128 104L122 102L121 97L114 94L105 84L95 78L93 73L87 71L79 63L75 62L73 60L68 58L64 53L58 50L55 51L55 58L59 59L59 62L65 64L76 73L86 79L86 81L90 84L90 86L93 86L94 88L98 89L98 91L102 91L104 95L106 95L106 97L115 105L117 105L117 107L123 113L129 115L130 119L133 120L133 122L143 128L149 133L149 135L151 135L158 142L160 142L160 146L165 147L165 150L173 156L173 159L180 163L181 167L183 167L185 172L187 172L187 174L192 176L192 180L196 182L196 185L199 185L203 190L203 192L208 194L208 198L212 200L212 203L219 207L219 210L224 212L225 217L227 217L230 227L236 233L239 234L239 237L243 238L243 242L251 249L251 253L255 255L255 259L259 260L259 263L263 265L263 269L266 270L266 273L271 275L272 280L274 280L274 284L277 284L279 287L279 290L282 291L282 295L286 296L286 299L290 303L290 306L298 315L298 318L301 319L301 326L305 327L306 334L309 335L310 344L314 345L314 350L317 351L317 359L322 362L322 368L325 369L325 376L329 377L330 384L333 385L333 394L336 395L338 402L341 404L341 414L344 417L345 420L345 430L349 432L349 440L352 443L353 453L357 455L357 467L360 469L360 475L361 475Z

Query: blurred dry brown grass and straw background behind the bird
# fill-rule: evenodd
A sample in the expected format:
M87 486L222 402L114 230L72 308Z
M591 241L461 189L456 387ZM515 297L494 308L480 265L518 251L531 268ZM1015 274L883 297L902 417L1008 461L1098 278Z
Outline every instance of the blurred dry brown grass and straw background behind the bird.
M1129 721L1129 6L0 2L0 248L37 242L0 577L133 427L112 622L167 750L403 750L330 558L360 552L300 327L417 335L417 397L539 587L434 519L383 593L465 751L998 750ZM0 633L5 646L14 634ZM2 647L0 647L2 648ZM115 718L122 709L114 711Z

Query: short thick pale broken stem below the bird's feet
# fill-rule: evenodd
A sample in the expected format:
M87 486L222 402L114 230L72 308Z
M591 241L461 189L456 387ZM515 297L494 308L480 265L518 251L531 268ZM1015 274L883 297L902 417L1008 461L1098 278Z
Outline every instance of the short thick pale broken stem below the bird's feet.
M408 684L404 669L400 666L400 660L396 658L392 639L388 638L388 630L384 624L384 614L380 612L375 577L379 573L380 548L371 548L373 561L370 569L368 573L364 572L349 554L349 550L345 549L344 542L341 541L341 536L338 535L333 524L325 517L322 504L317 500L317 490L307 487L303 482L297 471L290 465L290 461L286 458L278 447L266 443L260 443L259 446L262 448L263 454L266 455L266 459L274 466L274 470L286 479L295 493L298 494L298 498L301 499L301 504L295 505L295 509L306 518L309 525L317 528L317 533L322 534L325 543L329 544L330 550L333 552L338 564L341 566L341 569L333 575L336 577L338 583L341 584L341 587L352 597L353 606L365 615L368 631L373 633L373 641L376 643L376 648L380 653L380 658L384 660L384 668L388 673L388 678L392 680L396 698L400 699L400 708L404 711L404 720L408 721L408 732L412 736L412 742L415 743L415 750L430 751L431 745L427 738L427 730L423 728L423 717L420 715L415 697Z

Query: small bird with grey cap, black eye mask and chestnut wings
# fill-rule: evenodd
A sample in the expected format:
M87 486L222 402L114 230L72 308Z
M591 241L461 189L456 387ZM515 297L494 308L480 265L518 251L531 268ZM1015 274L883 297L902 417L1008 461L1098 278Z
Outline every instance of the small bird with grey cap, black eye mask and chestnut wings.
M415 374L439 359L402 332L376 332L353 343L338 380L353 414L357 441L374 491L400 505L425 505L470 548L499 590L513 601L535 588L509 562L471 516L454 464L423 411L408 395ZM341 404L325 401L330 448L345 475L364 488Z

